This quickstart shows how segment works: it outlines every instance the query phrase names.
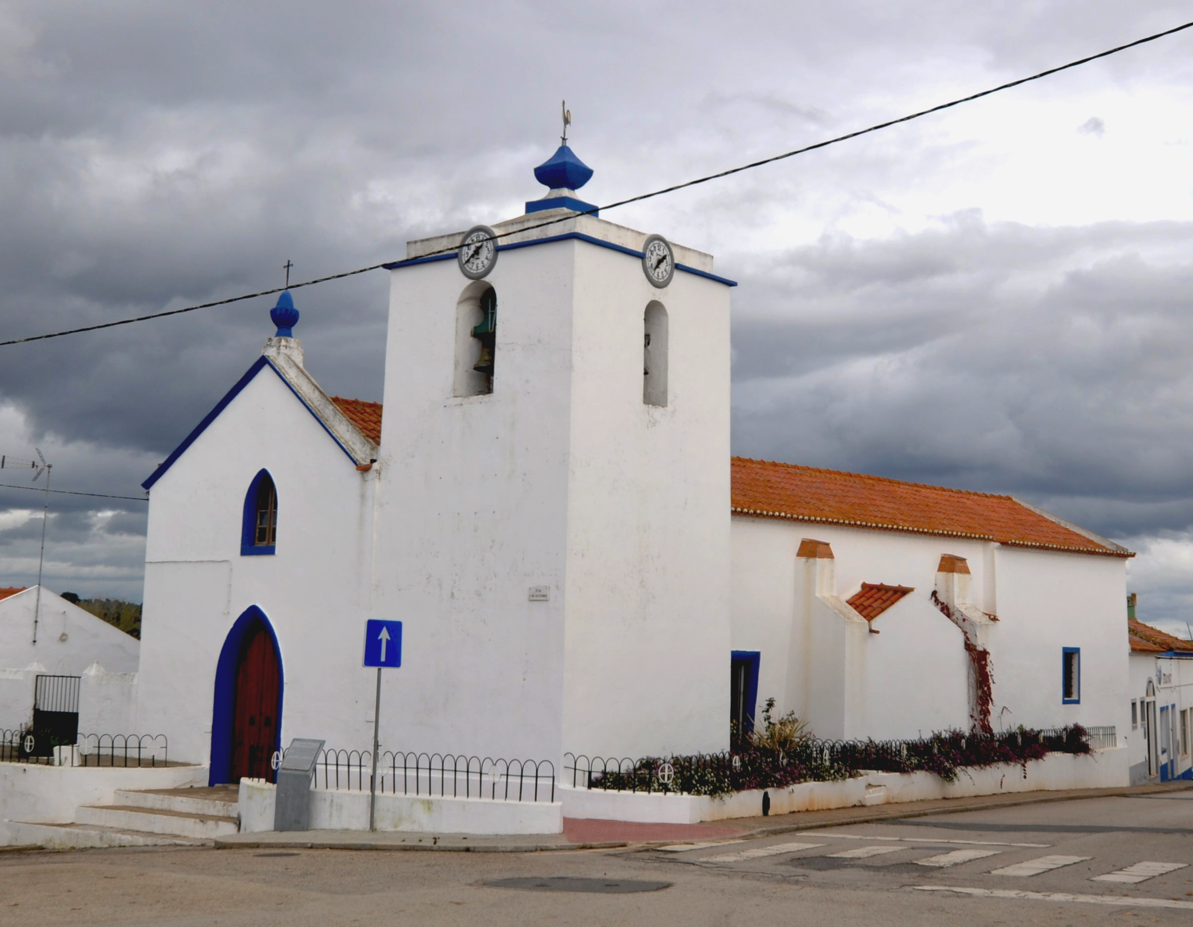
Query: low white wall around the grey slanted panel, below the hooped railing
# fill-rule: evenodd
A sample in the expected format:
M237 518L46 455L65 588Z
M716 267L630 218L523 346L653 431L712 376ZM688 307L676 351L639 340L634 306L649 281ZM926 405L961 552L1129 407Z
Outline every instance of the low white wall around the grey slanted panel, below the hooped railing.
M240 780L242 834L273 830L274 785ZM560 834L561 802L378 795L377 829L427 834ZM313 789L311 830L367 830L369 792Z

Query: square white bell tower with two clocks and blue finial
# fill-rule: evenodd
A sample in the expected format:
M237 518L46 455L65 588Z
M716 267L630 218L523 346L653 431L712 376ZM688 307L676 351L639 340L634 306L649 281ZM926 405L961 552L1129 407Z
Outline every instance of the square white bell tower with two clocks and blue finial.
M389 268L388 749L558 770L728 746L734 284L595 215L592 174L564 140L525 215Z

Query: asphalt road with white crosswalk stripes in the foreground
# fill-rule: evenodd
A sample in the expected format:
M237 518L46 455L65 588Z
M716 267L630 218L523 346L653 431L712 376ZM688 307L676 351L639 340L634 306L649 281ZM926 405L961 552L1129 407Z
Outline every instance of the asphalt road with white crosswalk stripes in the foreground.
M0 854L2 925L398 921L1189 925L1193 791L662 849Z

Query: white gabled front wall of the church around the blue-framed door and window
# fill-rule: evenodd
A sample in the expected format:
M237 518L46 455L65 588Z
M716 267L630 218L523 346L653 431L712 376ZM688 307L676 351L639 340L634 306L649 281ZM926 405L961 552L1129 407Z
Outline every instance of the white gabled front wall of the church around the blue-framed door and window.
M245 494L262 468L278 492L277 552L245 557ZM280 649L283 743L371 742L360 660L375 478L268 367L174 462L150 492L138 733L166 734L171 759L208 761L220 651L256 605Z

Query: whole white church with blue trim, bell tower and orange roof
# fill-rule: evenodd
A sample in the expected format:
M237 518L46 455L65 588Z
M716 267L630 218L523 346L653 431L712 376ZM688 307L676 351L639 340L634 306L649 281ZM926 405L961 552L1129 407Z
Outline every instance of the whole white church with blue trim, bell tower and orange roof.
M384 618L385 749L716 752L768 698L822 737L1126 730L1130 551L1009 496L733 458L735 284L581 215L591 174L561 147L525 215L409 242L383 406L323 393L280 296L144 482L137 729L211 783L296 736L369 749Z

